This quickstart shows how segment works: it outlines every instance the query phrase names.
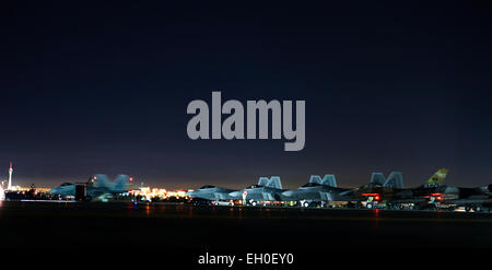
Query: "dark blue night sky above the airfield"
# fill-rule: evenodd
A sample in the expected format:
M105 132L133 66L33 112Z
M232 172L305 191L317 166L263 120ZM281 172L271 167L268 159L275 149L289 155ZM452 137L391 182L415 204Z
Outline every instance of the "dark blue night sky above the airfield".
M37 186L359 186L374 171L417 186L441 167L492 183L490 4L231 2L2 1L0 177L13 161L14 184ZM189 140L188 103L215 90L305 99L305 149Z

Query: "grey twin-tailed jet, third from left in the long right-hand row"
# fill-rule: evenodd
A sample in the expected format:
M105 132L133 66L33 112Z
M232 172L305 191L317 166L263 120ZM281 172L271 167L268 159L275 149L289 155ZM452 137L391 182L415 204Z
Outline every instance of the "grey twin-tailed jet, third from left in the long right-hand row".
M343 191L345 188L338 188L335 175L312 175L309 183L292 190L282 192L288 201L298 201L301 206L308 207L311 202L332 201L333 196Z

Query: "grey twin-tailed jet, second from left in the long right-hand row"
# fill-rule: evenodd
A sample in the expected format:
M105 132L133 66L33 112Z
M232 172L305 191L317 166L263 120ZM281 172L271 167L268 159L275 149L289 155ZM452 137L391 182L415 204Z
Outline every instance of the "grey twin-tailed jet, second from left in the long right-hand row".
M282 201L282 183L279 176L260 177L258 185L253 185L242 190L233 191L230 196L236 200L243 200L251 206L261 201Z

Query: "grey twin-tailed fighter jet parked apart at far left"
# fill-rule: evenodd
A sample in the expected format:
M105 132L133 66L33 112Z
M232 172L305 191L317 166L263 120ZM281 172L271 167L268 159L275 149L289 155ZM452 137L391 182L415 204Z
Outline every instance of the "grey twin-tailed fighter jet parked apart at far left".
M87 183L63 183L49 190L49 192L60 196L75 196L77 186L85 185L86 200L102 199L103 197L106 198L117 193L127 192L131 181L132 179L128 175L118 175L115 181L110 183L106 175L98 174L91 177Z

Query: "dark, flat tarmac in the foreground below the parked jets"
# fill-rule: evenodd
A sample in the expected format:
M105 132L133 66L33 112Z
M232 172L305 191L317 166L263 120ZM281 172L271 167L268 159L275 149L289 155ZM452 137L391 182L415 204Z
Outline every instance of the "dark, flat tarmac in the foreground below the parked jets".
M0 247L491 248L492 214L0 202Z

